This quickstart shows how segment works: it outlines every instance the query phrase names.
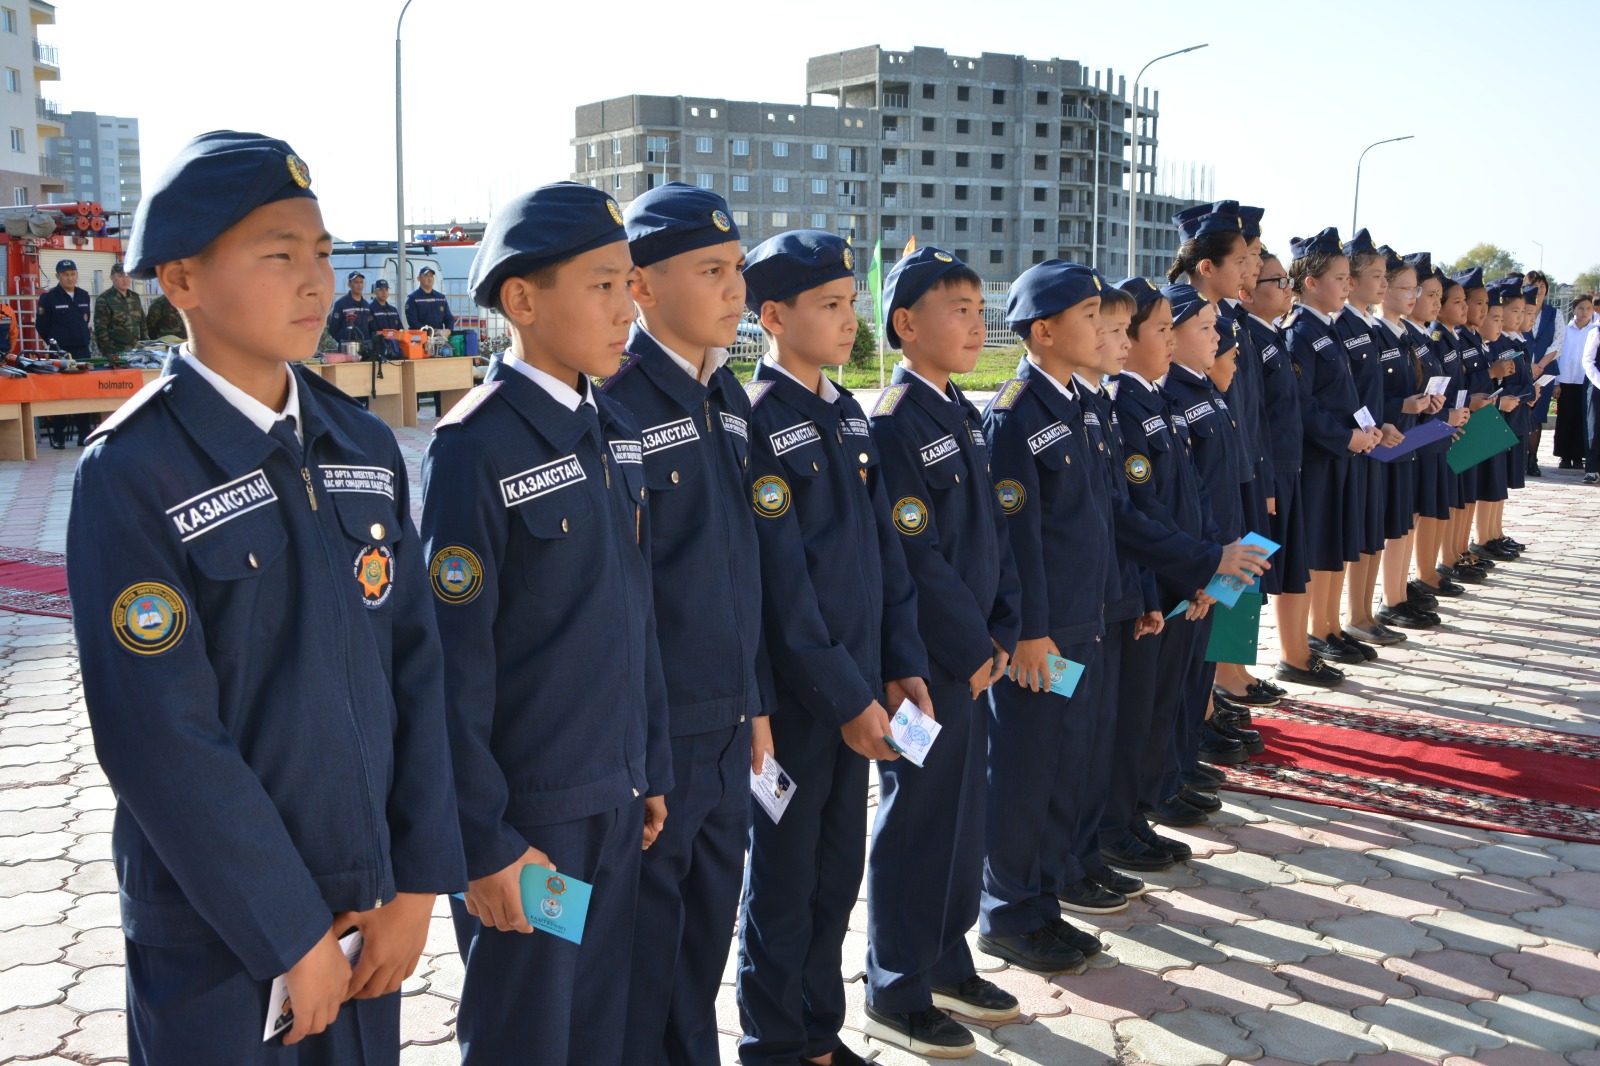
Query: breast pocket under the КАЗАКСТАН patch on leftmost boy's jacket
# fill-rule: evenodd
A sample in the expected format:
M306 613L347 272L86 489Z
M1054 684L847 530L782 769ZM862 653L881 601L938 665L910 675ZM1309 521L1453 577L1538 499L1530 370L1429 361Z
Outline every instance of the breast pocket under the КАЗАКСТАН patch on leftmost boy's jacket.
M286 547L288 533L270 509L189 541L195 608L211 648L243 655L283 629L294 607Z

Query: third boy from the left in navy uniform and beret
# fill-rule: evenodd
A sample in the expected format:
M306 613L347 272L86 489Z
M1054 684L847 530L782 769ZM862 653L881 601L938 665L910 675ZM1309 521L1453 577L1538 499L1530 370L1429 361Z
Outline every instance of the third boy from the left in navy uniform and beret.
M670 182L622 216L640 320L602 392L640 426L672 818L645 852L622 1061L717 1061L717 989L750 829L752 730L771 751L750 402L723 363L744 311L739 230L715 192ZM765 818L765 815L762 815Z

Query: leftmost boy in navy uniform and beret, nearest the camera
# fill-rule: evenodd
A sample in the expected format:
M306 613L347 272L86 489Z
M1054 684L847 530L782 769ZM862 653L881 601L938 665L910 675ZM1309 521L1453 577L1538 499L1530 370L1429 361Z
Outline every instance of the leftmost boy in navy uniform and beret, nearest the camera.
M330 246L306 163L234 131L184 146L128 245L190 343L85 451L67 579L117 792L131 1063L397 1063L400 983L466 884L405 461L290 368ZM294 1024L262 1042L285 973Z

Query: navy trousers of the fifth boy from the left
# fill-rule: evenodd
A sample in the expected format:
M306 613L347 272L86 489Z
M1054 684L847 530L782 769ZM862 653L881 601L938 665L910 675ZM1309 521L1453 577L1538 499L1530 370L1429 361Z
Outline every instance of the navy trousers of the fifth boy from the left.
M984 876L989 695L938 664L928 687L939 739L922 768L878 763L878 816L867 856L867 999L893 1013L933 1005L934 984L976 973L966 930Z

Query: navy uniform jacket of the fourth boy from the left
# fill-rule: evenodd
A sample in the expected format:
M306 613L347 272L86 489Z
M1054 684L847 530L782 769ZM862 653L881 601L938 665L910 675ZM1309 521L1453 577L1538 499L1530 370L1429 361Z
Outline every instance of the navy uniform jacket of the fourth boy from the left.
M778 683L770 711L837 728L882 701L886 680L928 677L917 586L854 397L838 389L829 403L765 362L746 391L762 616Z

